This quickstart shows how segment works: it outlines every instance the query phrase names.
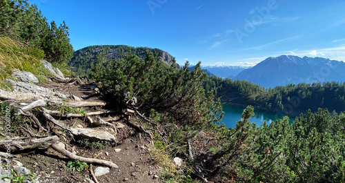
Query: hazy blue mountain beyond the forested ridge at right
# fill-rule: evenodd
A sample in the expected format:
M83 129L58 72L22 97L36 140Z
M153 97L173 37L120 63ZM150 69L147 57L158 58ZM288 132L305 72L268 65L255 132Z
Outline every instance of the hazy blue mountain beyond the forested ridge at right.
M235 79L259 84L266 88L317 81L344 81L345 69L343 61L335 61L321 57L297 57L281 55L268 57L253 68L239 73Z

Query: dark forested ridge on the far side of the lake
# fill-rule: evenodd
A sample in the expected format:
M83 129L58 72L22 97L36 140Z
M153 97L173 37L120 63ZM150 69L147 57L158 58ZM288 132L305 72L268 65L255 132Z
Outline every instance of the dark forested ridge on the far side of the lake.
M215 90L224 104L252 105L257 110L277 115L295 117L308 109L316 112L318 108L337 113L345 110L345 84L337 81L262 88L248 81L209 77L204 87L206 91Z

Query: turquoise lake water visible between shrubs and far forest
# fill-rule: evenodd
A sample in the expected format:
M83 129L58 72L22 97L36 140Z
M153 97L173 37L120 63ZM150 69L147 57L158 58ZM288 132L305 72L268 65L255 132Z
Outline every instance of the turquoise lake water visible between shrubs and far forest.
M224 123L228 128L235 128L237 121L241 119L241 115L243 113L244 108L239 108L235 106L223 106L223 110L225 112L221 123ZM250 122L255 122L257 126L260 126L262 122L266 121L267 124L277 120L283 119L283 116L279 115L271 115L268 113L259 113L254 110L255 115L249 119ZM290 118L290 122L293 122L293 119Z

